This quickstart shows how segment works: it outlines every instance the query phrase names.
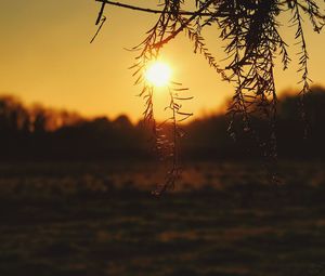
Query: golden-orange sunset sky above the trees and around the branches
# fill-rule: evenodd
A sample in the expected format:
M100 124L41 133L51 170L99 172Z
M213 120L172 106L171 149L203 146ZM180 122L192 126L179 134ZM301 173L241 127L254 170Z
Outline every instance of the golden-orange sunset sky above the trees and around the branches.
M148 1L126 0L147 6ZM145 38L145 31L157 19L155 14L106 6L107 21L90 44L101 3L94 0L0 0L0 94L13 94L27 104L65 108L83 116L128 115L133 121L142 117L143 101L136 96L141 88L133 86L128 69L136 53L127 51ZM152 6L155 6L152 4ZM286 18L282 18L286 25ZM306 23L310 53L310 77L324 84L325 34L314 34ZM288 38L292 63L286 71L276 64L277 91L297 88L294 28L283 28ZM224 58L216 29L204 35L207 45ZM194 118L218 111L232 96L233 89L211 69L193 45L180 35L162 49L161 60L172 68L174 81L190 88L194 96L184 111ZM158 119L166 117L167 93L159 89L155 97Z

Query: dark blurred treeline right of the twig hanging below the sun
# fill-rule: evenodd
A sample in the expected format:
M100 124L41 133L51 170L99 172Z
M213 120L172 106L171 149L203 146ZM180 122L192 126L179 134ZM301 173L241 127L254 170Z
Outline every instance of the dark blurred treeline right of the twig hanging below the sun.
M191 122L186 126L188 136L183 152L191 158L259 158L265 154L261 144L268 144L272 133L268 120L252 118L251 123L253 131L245 131L242 118L236 118L232 139L226 115ZM297 93L283 95L275 126L280 158L324 159L325 89L314 87L303 103Z

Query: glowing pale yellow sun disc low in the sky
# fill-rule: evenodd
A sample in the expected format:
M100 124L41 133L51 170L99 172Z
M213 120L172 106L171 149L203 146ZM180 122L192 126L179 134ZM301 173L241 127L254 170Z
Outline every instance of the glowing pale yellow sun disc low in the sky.
M145 70L145 79L155 87L165 87L170 82L171 69L164 62L154 62Z

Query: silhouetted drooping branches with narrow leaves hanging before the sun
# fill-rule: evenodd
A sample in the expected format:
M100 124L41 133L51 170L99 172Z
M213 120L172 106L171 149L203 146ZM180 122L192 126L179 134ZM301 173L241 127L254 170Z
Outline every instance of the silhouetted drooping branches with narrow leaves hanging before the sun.
M295 31L298 52L299 70L301 78L301 106L303 97L310 89L308 74L308 48L304 35L303 19L309 19L314 31L320 32L325 24L324 13L318 6L323 1L314 0L195 0L195 11L185 11L185 4L190 0L159 1L160 10L132 6L107 0L98 0L104 4L115 4L126 9L138 10L158 14L157 21L146 32L145 39L132 50L138 52L136 62L131 67L135 77L135 84L142 86L140 95L145 100L144 118L153 126L158 148L168 147L171 153L172 169L168 174L166 184L158 188L160 194L166 188L172 187L174 180L179 178L177 144L179 134L178 121L191 114L181 111L182 101L177 91L180 88L169 88L170 105L172 110L170 118L174 126L173 139L165 141L159 133L159 127L154 119L153 93L143 76L147 63L157 60L162 47L181 32L184 32L194 45L194 52L203 54L209 65L220 75L221 79L234 84L233 102L229 114L232 118L229 132L236 139L234 119L239 118L243 130L256 145L261 147L261 153L266 160L272 162L276 158L276 104L274 64L281 56L283 68L286 69L291 57L288 55L285 38L280 34L280 15L287 14L287 24ZM102 6L102 8L103 8ZM102 9L103 11L103 9ZM102 16L100 13L99 18ZM224 61L226 65L221 67L217 58L206 47L202 30L206 26L213 26L220 31L220 39L226 43ZM294 28L292 28L294 27ZM184 97L188 98L188 97ZM303 110L303 108L302 108ZM302 118L306 117L301 111ZM178 118L181 116L181 118ZM253 126L256 118L263 120L268 126L268 135L260 136Z

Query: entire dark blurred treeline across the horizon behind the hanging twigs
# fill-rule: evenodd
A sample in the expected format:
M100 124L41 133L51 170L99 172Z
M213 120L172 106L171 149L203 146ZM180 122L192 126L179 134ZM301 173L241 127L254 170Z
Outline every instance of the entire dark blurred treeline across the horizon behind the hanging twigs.
M301 120L299 97L286 95L278 104L277 152L285 158L325 158L325 90L313 88ZM230 118L216 115L183 126L181 154L184 158L255 158L262 154L258 139L235 121L235 141L227 131ZM268 137L266 122L256 118L257 133ZM304 132L307 130L307 137ZM11 96L0 97L0 159L84 160L153 158L150 129L133 126L127 116L115 120L88 120L75 113L40 105L26 107Z

